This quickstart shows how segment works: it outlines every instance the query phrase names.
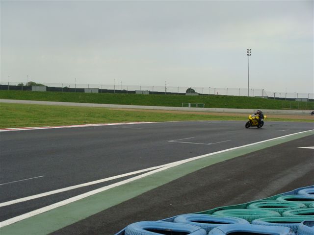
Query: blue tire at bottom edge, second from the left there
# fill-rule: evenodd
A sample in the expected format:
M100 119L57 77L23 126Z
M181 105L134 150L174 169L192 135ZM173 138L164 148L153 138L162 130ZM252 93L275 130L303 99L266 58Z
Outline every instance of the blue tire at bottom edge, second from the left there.
M209 235L232 235L232 234L263 234L263 235L295 235L291 229L287 227L272 227L255 224L230 224L222 225L214 228Z

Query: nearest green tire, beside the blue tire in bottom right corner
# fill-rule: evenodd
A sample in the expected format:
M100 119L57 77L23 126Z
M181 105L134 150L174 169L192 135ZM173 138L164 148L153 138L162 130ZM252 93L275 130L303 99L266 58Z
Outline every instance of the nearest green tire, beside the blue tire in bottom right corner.
M297 232L299 225L304 220L313 220L311 217L272 217L262 218L252 221L252 224L264 225L264 226L283 226L290 228L294 233Z

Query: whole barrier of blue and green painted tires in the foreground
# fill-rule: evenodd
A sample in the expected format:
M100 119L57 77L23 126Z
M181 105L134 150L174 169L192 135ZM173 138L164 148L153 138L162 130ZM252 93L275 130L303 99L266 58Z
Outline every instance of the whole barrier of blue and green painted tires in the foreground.
M314 235L314 187L296 192L172 221L137 222L117 235Z

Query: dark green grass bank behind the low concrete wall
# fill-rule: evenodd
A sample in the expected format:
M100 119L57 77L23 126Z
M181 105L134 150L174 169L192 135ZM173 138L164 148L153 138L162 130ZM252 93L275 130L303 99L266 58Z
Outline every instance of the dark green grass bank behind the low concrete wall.
M126 104L181 107L182 103L204 103L205 108L235 109L308 109L314 110L314 102L296 102L227 95L160 95L160 94L110 94L110 93L62 93L0 91L2 99L24 99L79 103Z

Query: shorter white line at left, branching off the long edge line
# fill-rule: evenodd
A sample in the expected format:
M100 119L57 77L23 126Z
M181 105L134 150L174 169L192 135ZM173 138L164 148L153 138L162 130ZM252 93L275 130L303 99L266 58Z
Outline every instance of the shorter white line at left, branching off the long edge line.
M49 196L49 195L52 195L52 194L55 194L55 193L59 193L59 192L64 192L64 191L69 191L69 190L76 189L76 188L82 188L82 187L86 187L86 186L91 186L91 185L103 183L103 182L106 182L106 181L110 181L110 180L119 179L119 178L130 176L130 175L142 173L142 172L145 172L145 171L154 170L154 169L157 169L157 168L161 168L163 166L164 165L153 166L153 167L150 167L150 168L146 168L146 169L142 169L142 170L136 170L136 171L133 171L133 172L129 172L129 173L121 174L121 175L116 175L116 176L108 177L108 178L101 179L101 180L95 180L95 181L87 182L87 183L84 183L84 184L79 184L79 185L70 186L70 187L66 187L66 188L55 189L55 190L48 191L48 192L43 192L43 193L39 193L39 194L35 194L35 195L23 197L23 198L18 198L18 199L15 199L15 200L11 200L11 201L0 203L0 208L1 207L5 207L5 206L9 206L9 205L12 205L12 204L16 204L16 203L25 202L25 201L29 201L29 200L32 200L32 199L40 198L40 197ZM39 177L43 177L43 176L39 176ZM8 183L6 183L6 184L8 184Z

